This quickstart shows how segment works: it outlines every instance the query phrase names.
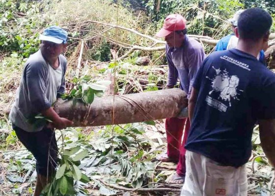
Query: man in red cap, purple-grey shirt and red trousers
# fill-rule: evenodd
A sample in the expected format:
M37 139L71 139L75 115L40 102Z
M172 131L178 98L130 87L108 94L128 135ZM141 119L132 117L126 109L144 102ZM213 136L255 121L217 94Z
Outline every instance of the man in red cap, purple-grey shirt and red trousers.
M167 89L173 88L177 80L180 89L191 94L194 77L205 58L205 53L196 40L189 38L186 33L186 19L178 14L171 14L165 19L163 28L156 34L165 37L166 58L168 62ZM182 184L185 178L185 142L187 140L190 122L187 108L178 115L178 118L169 118L165 121L167 135L167 152L159 155L157 159L166 162L178 162L177 172L168 179L170 184ZM186 114L186 115L185 115ZM182 141L183 129L184 139Z

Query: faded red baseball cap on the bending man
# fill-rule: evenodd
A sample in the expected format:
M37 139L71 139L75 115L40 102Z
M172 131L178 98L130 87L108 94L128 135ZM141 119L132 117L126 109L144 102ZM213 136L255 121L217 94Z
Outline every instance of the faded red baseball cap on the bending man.
M165 37L173 31L186 28L186 19L179 14L171 14L165 18L162 29L156 34L157 37Z

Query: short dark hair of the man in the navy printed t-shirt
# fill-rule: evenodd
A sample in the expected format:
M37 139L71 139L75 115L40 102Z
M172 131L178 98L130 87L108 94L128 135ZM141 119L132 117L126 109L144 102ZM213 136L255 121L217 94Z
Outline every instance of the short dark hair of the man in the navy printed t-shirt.
M259 40L264 37L272 25L272 18L261 8L248 8L238 19L238 32L241 39Z

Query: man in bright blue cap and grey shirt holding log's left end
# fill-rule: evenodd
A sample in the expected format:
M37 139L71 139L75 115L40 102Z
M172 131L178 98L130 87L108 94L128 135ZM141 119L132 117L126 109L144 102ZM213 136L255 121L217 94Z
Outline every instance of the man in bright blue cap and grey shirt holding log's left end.
M61 118L52 104L65 92L66 58L61 52L67 46L68 33L58 26L46 28L40 35L40 49L28 58L16 99L9 114L18 139L36 159L37 181L33 196L39 196L50 182L57 163L54 128L73 124ZM30 123L38 114L53 123Z

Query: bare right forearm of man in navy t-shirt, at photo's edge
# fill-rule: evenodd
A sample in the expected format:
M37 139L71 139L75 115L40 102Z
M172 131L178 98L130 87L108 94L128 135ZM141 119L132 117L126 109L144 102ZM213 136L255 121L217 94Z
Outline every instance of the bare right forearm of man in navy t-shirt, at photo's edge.
M260 120L261 146L270 162L275 167L275 120Z

